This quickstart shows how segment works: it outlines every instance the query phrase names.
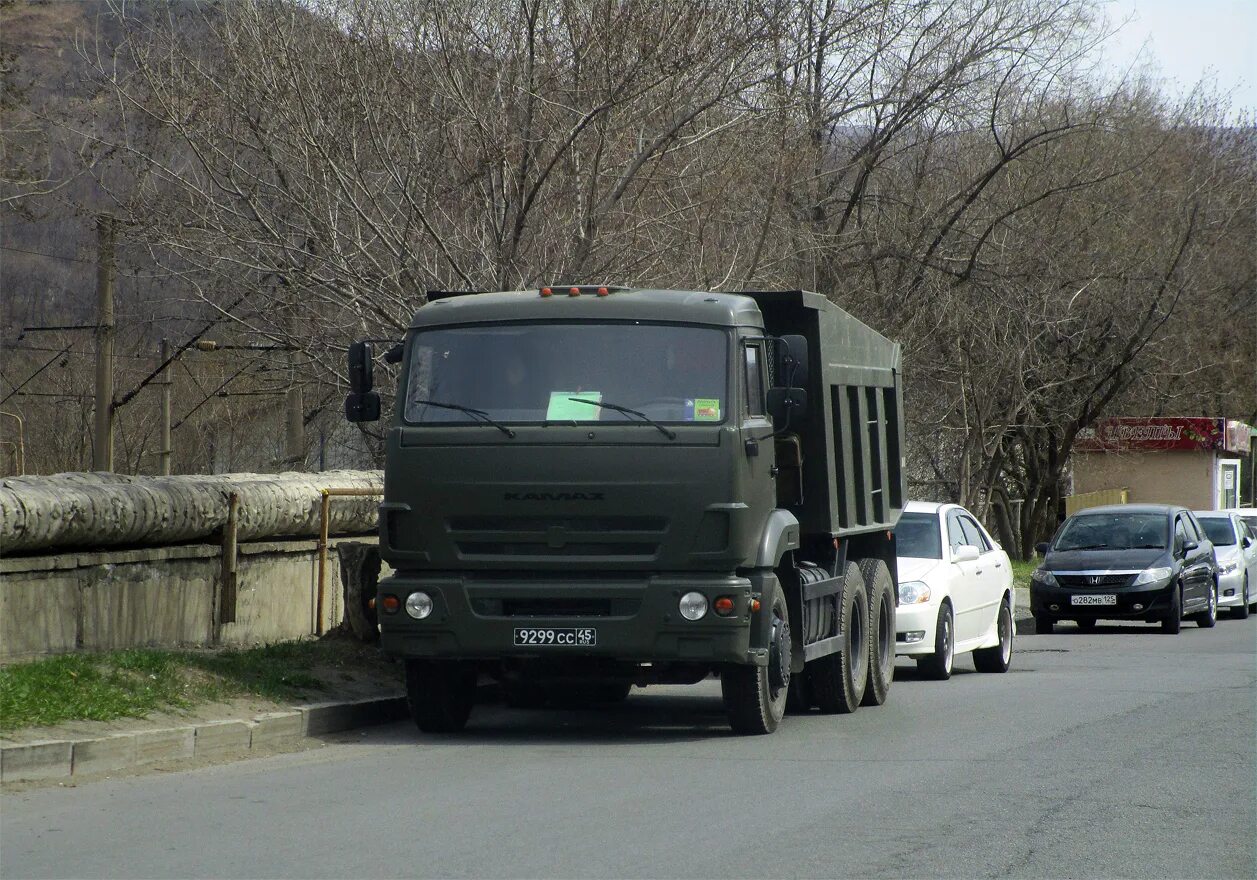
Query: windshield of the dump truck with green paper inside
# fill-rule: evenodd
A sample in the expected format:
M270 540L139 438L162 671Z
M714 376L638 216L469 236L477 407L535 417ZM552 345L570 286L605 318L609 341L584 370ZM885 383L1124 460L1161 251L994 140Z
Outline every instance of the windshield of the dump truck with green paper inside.
M411 424L725 420L729 334L674 324L493 324L420 331L405 417ZM425 402L426 401L426 402ZM436 402L447 406L437 406ZM597 406L607 404L607 406Z

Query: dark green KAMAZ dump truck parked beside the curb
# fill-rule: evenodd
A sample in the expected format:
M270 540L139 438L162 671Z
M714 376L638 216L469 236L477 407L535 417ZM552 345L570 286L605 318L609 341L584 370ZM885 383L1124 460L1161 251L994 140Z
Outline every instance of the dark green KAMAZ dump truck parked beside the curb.
M431 293L386 358L376 608L422 730L484 676L535 705L716 675L748 734L886 699L896 343L803 290L556 287Z

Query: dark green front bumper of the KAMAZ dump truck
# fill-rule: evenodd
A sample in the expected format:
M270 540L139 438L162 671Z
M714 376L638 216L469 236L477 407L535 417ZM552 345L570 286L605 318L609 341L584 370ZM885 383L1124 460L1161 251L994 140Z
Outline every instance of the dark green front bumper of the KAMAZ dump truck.
M762 615L750 612L760 583L737 576L676 575L608 580L591 575L553 581L474 576L400 573L378 586L377 607L386 595L402 605L422 590L432 613L414 620L405 611L380 612L380 640L401 657L504 660L529 657L603 657L637 663L699 661L767 664L767 650L752 649L752 629ZM698 621L681 617L680 597L696 590L708 597ZM734 612L718 616L711 606L729 596ZM767 602L764 603L768 605ZM587 629L595 645L515 646L518 627Z

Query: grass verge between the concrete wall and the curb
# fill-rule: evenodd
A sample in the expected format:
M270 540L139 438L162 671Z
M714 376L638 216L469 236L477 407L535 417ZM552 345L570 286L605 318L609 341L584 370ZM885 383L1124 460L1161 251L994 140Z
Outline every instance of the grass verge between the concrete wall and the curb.
M378 656L357 642L323 640L224 651L131 649L13 664L0 668L0 732L142 718L238 696L308 698L371 654Z

